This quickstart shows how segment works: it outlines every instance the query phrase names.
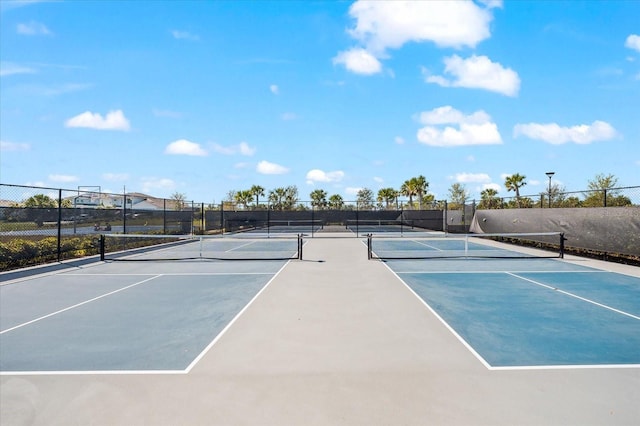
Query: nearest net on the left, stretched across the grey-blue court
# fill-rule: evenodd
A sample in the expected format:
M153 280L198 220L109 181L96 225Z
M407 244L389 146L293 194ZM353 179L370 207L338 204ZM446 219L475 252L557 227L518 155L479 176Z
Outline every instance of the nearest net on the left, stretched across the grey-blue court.
M105 234L100 237L100 260L289 260L302 259L302 246L302 235L237 238Z

